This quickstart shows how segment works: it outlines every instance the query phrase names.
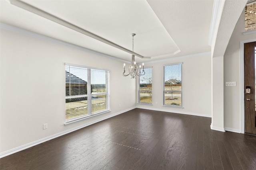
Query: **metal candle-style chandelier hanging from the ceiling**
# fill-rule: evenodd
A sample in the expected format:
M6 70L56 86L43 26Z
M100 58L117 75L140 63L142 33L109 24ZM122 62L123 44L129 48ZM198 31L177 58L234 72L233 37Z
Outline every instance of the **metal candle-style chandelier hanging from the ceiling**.
M135 55L133 54L133 37L136 35L135 33L132 33L132 63L130 64L129 66L129 73L126 74L125 72L125 63L124 63L124 72L123 72L123 76L132 76L132 78L136 78L136 75L137 76L142 76L145 74L145 71L144 71L144 63L142 63L142 72L140 70L141 68L141 65L140 67L138 68L137 64L136 64L136 61L134 59Z

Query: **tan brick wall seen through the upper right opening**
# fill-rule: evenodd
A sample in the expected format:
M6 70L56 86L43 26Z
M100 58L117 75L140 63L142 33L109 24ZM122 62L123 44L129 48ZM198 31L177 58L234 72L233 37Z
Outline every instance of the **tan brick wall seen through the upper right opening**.
M244 14L245 31L256 29L256 2L246 5Z

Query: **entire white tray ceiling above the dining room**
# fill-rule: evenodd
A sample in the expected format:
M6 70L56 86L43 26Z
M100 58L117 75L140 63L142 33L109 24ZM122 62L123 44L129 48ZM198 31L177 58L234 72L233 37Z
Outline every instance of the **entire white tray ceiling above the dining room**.
M1 23L137 63L211 51L212 0L0 0Z

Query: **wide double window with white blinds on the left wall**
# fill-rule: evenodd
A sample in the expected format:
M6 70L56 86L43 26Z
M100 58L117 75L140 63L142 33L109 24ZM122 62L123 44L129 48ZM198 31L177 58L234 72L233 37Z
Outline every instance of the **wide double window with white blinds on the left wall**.
M110 110L109 71L66 64L66 124Z

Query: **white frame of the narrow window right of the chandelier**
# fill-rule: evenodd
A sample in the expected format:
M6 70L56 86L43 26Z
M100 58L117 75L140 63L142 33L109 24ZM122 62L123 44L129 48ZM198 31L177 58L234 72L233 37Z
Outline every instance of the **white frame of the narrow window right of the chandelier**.
M165 64L163 65L163 106L167 106L167 107L178 107L178 108L183 108L183 104L182 104L182 64L183 63L172 63L172 64ZM165 67L166 66L172 66L172 65L180 65L180 76L181 76L181 90L165 90ZM176 105L176 104L165 104L165 92L180 92L180 105Z

